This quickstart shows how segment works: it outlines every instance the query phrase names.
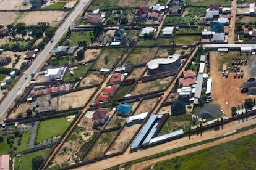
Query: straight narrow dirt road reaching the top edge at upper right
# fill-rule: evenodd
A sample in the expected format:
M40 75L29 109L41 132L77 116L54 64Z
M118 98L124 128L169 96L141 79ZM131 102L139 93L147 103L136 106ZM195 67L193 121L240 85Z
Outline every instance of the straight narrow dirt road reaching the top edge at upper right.
M235 28L236 28L236 0L231 1L231 17L230 17L231 29L228 33L228 44L234 44Z

